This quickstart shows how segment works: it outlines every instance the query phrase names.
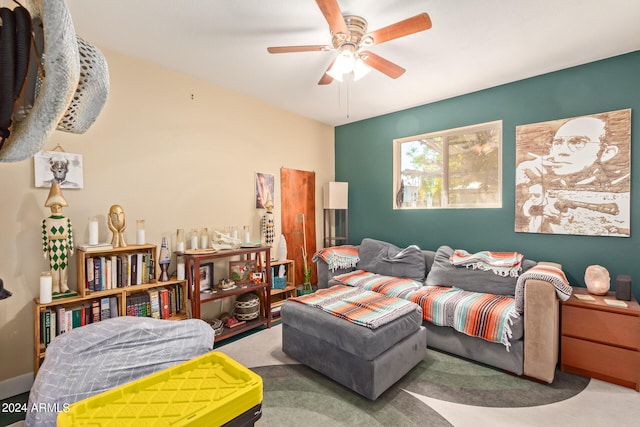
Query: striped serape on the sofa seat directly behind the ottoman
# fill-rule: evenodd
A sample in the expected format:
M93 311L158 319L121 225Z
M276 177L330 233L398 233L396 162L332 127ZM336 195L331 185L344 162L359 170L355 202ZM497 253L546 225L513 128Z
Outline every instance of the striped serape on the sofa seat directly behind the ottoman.
M350 273L334 276L336 280L343 285L357 286L369 291L374 291L389 297L409 299L409 296L422 288L422 282L417 280L383 276L381 274L371 273L364 270L356 270Z

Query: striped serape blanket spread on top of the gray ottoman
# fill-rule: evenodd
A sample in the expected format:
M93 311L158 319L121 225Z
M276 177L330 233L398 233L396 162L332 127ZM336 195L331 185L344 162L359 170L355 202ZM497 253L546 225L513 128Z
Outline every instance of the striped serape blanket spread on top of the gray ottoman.
M412 302L380 295L362 288L335 285L313 294L289 298L319 308L369 329L377 329L408 313L420 311Z

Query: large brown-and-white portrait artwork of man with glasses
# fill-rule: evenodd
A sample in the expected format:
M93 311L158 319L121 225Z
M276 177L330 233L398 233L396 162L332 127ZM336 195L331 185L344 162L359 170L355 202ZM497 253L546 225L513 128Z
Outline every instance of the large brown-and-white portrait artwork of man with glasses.
M516 127L515 231L630 234L631 110Z

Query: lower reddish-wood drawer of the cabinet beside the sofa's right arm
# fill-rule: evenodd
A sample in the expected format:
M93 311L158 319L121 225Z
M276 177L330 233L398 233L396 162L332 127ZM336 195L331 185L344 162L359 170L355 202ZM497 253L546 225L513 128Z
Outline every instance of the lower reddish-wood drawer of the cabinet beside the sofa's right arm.
M561 369L638 390L640 352L562 337Z

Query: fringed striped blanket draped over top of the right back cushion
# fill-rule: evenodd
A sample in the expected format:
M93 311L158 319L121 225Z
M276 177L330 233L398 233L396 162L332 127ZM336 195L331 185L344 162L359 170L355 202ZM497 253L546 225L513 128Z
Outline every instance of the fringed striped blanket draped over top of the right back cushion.
M518 277L522 268L523 255L518 252L481 251L470 254L464 249L456 249L449 258L455 266L471 267L484 271L492 270L503 277Z

